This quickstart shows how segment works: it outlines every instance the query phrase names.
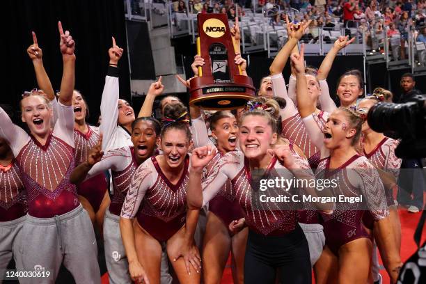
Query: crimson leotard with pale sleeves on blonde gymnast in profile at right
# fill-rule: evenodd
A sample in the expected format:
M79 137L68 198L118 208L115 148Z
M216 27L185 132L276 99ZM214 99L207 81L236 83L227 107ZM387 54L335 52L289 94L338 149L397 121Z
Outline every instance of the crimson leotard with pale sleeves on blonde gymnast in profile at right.
M364 228L363 216L368 212L375 221L388 216L386 194L377 169L366 157L354 155L339 168L331 170L330 153L324 146L324 134L315 121L315 114L303 118L303 123L322 157L326 157L318 165L316 178L337 180L338 187L333 189L336 197L363 196L362 202L338 202L332 214L321 213L326 244L337 254L340 246L347 242L361 237L371 238Z

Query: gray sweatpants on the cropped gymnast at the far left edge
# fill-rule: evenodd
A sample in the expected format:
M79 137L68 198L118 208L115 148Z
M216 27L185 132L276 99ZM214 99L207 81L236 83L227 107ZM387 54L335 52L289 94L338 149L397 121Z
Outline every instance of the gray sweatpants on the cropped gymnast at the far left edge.
M18 235L24 226L24 221L26 216L21 218L0 222L0 283L3 281L3 274L8 267L12 256L15 259L15 262L21 262L19 258L19 244L18 244Z

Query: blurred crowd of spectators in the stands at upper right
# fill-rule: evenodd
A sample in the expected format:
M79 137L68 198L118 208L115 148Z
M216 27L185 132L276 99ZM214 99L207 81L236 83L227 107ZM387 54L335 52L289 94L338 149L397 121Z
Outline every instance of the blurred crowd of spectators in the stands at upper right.
M312 20L302 38L306 43L317 42L319 29L345 28L349 35L349 29L356 29L363 31L367 45L379 52L383 52L386 33L393 39L390 49L394 49L394 60L407 58L409 30L414 32L414 41L426 42L426 0L179 0L173 2L173 11L225 13L231 21L237 15L263 13L274 29L285 26L285 15L290 15L292 22Z

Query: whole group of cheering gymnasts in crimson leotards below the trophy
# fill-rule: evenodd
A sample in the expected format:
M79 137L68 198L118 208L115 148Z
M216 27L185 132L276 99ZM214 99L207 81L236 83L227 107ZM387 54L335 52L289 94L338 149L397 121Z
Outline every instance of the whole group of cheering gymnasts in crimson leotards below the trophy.
M13 257L18 271L52 271L21 283L54 283L61 264L76 283L100 283L98 231L109 283L220 283L229 255L235 283L311 283L312 275L315 283L373 283L380 277L377 248L396 283L398 141L365 120L388 92L361 99L360 72L349 71L338 79L336 107L326 77L352 40L338 38L319 69L306 67L297 43L308 24L287 24L289 40L246 108L188 110L168 96L161 121L151 116L164 90L161 78L137 116L119 99L123 49L113 39L100 127L86 123L88 106L74 90L70 32L58 23L58 94L33 33L27 53L40 90L20 102L29 131L0 108L0 273ZM282 72L289 58L287 88ZM195 56L195 76L203 64ZM239 54L235 64L246 74ZM334 195L363 196L363 204L313 203L303 210L260 204L253 188L258 170L336 179ZM319 194L308 186L297 190Z

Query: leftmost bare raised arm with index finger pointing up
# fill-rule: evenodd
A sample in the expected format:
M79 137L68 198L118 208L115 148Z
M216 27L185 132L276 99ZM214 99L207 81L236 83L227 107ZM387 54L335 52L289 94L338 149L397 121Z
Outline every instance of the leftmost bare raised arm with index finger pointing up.
M52 83L50 82L49 76L47 76L45 66L43 65L43 52L38 46L36 33L33 33L33 44L26 49L26 53L33 62L34 72L36 72L36 79L38 88L42 89L46 94L48 100L56 100Z

